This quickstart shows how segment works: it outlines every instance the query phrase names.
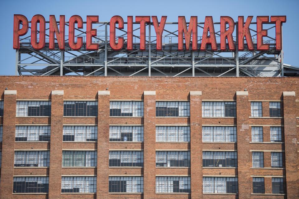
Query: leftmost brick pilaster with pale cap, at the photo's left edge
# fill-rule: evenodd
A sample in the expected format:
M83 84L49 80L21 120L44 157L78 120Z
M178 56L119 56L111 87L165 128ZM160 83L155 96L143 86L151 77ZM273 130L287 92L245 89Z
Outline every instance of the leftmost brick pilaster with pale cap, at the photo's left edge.
M4 91L3 137L2 137L2 165L0 198L11 199L13 189L13 160L16 132L16 99L17 91Z

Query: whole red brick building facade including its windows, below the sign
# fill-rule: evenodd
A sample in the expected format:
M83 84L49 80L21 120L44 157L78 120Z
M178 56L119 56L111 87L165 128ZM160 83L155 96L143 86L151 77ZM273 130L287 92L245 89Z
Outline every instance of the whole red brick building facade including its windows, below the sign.
M0 199L299 198L298 78L1 76L0 95Z

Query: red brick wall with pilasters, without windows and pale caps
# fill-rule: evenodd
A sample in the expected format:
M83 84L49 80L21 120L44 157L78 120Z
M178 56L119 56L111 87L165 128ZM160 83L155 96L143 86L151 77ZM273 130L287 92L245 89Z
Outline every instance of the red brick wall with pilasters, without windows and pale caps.
M202 176L238 175L239 198L282 199L298 198L298 135L299 135L299 86L298 78L168 78L168 77L49 77L49 76L1 76L0 95L4 98L2 168L0 199L9 198L204 198L232 199L238 195L202 194ZM17 90L17 95L3 95L4 89ZM110 91L110 95L97 95L98 91ZM248 97L236 96L236 91L249 92ZM64 95L51 95L52 90L64 90ZM144 91L156 91L156 95L144 96ZM190 96L190 91L202 91L202 96ZM283 97L283 91L295 91L296 96ZM16 118L16 99L51 99L52 117ZM98 117L69 118L63 117L63 100L98 100ZM109 117L109 100L143 100L144 118ZM236 118L201 118L202 100L235 100ZM189 100L191 115L189 118L156 118L155 100ZM250 100L263 100L263 116L269 116L269 101L281 100L282 118L248 118ZM51 124L51 142L26 143L14 142L15 124ZM72 143L62 142L63 124L93 124L98 126L98 142ZM109 142L109 124L143 124L144 143ZM191 143L156 143L156 124L188 124L191 128ZM237 125L237 143L202 143L201 125ZM247 129L242 124L249 126ZM282 125L282 142L278 144L249 143L251 125L264 125L264 142L270 141L270 127ZM284 126L283 126L284 125ZM296 140L296 141L295 141ZM15 149L50 149L50 168L13 168ZM97 168L61 168L62 149L96 149L98 152ZM143 149L144 168L108 168L109 149ZM191 150L191 168L155 168L156 149ZM202 169L202 149L238 150L238 168ZM252 167L250 150L284 151L285 169L250 169ZM271 166L270 152L264 152L265 167ZM291 157L291 158L290 158ZM286 161L286 162L285 162ZM60 194L61 175L97 175L96 194ZM109 175L144 175L144 194L108 194ZM49 175L50 190L47 195L12 194L14 175ZM191 194L155 194L155 175L191 175ZM287 196L251 195L252 177L284 176ZM192 177L193 176L193 177ZM286 176L286 177L285 177ZM4 183L5 182L5 183ZM265 178L266 193L272 193L271 177Z

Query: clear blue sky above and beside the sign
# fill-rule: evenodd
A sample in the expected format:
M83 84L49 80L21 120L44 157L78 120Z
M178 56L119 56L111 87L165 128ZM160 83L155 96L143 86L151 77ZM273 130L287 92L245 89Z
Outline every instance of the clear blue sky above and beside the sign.
M29 20L36 14L45 16L65 15L66 20L72 15L98 15L100 21L109 21L114 15L124 19L132 16L166 15L167 21L178 21L178 16L198 16L198 21L204 21L205 16L213 16L219 22L220 16L231 16L235 21L238 16L271 16L286 15L287 22L283 24L284 62L299 66L299 0L1 0L1 65L0 75L15 74L15 50L12 48L13 15L22 14ZM254 20L255 21L255 20Z

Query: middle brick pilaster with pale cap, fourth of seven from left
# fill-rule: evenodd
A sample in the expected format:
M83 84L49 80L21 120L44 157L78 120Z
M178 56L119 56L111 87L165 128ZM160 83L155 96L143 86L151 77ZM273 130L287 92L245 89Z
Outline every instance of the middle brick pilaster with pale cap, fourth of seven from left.
M156 198L156 92L144 91L143 198Z

